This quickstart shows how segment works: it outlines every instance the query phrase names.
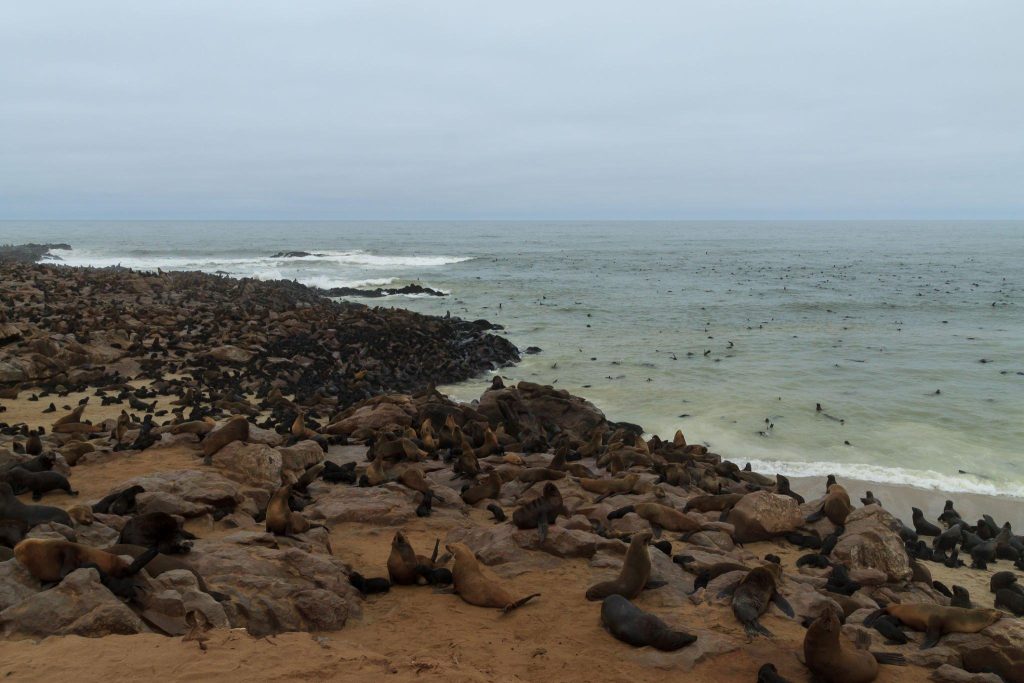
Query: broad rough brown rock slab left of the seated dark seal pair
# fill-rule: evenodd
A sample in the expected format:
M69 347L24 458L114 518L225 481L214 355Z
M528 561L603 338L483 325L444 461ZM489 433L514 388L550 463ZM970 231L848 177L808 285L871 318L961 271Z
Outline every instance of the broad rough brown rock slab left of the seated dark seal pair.
M349 566L331 555L200 541L189 562L211 589L230 596L231 626L253 635L337 630L360 613Z

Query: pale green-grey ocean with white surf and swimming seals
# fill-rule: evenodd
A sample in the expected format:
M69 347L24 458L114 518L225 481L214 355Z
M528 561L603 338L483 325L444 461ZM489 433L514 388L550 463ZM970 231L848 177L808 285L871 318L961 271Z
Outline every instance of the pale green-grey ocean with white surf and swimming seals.
M740 465L1024 498L1021 221L0 222L23 242L70 243L70 265L419 283L449 296L355 300L500 323L542 349L504 377Z

